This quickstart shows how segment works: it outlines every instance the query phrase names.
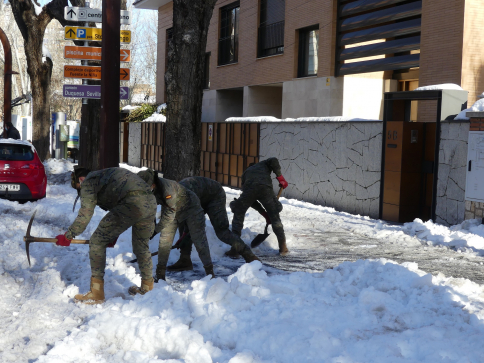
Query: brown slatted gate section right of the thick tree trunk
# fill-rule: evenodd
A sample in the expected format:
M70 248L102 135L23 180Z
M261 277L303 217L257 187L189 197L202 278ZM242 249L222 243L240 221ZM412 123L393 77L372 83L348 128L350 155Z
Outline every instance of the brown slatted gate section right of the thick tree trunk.
M200 175L241 188L244 170L259 162L259 139L258 123L203 123Z

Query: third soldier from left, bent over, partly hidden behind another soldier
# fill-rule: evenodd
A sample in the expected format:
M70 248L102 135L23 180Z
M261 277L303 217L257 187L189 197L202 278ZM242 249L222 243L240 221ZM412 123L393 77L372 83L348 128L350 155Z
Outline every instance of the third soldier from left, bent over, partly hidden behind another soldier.
M194 176L185 178L180 181L188 190L194 192L198 199L200 199L200 205L203 211L208 214L210 222L217 237L224 243L231 246L238 254L242 255L245 262L250 263L255 260L259 260L250 250L244 241L232 233L229 229L229 219L227 217L227 210L225 207L225 190L222 185L209 178L202 176ZM184 226L180 226L180 235L182 235ZM188 229L189 230L189 229ZM168 266L168 271L187 271L192 270L192 260L190 254L192 252L192 241L190 235L187 235L180 245L180 259L175 264Z

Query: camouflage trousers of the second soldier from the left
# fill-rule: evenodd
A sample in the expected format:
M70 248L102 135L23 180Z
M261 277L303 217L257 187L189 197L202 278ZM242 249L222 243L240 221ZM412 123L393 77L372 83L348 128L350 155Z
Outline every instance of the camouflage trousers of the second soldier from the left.
M205 214L203 213L200 204L177 212L175 221L164 228L167 229L166 233L172 233L174 235L178 226L185 225L190 231L191 240L195 244L195 248L200 256L203 266L211 265L212 258L210 257L210 248L208 247L207 235L205 233ZM180 232L180 236L182 234L183 232ZM160 235L157 269L166 269L172 244L173 241L168 241Z

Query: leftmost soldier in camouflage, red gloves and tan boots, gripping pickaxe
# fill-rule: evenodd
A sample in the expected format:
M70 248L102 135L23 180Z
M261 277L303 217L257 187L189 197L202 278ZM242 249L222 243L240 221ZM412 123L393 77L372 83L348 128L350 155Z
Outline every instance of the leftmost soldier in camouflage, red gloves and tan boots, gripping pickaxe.
M68 246L89 224L97 206L109 211L99 223L89 242L91 261L91 290L74 297L76 302L97 304L104 301L104 269L106 247L113 247L118 236L133 227L133 252L138 258L141 287L132 286L129 293L144 294L153 289L153 265L149 239L156 217L156 200L150 187L136 174L122 168L108 168L90 172L76 167L72 183L78 189L81 208L76 220L64 235L57 236L57 244Z

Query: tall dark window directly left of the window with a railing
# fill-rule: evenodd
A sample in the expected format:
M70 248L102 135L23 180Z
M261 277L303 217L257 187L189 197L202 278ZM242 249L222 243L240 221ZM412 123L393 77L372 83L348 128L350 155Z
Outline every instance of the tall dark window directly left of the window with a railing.
M237 63L239 53L239 9L237 1L220 10L218 65Z

